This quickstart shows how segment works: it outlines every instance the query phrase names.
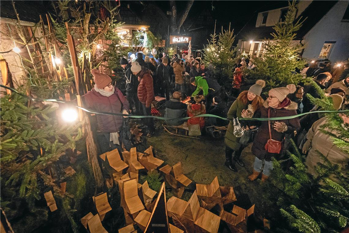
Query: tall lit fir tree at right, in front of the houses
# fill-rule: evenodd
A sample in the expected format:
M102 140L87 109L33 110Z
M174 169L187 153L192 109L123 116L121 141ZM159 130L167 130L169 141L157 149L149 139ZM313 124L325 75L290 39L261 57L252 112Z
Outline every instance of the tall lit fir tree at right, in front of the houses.
M270 34L273 39L262 42L260 58L253 58L255 70L249 70L247 83L253 84L257 79L266 81L264 91L273 87L285 87L293 83L297 85L302 80L302 75L296 73L304 67L304 60L299 52L304 48L297 43L296 31L302 27L302 18L295 21L297 13L296 1L289 2L285 21L275 24L275 32Z

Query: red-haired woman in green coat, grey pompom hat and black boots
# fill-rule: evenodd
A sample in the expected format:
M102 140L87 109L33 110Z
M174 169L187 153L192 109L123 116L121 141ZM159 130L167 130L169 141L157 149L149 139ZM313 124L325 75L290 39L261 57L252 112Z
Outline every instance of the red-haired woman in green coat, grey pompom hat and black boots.
M263 80L257 80L257 82L250 87L250 89L247 91L243 91L240 93L238 98L234 101L234 103L231 105L229 111L228 111L228 118L252 118L252 117L259 117L260 111L259 109L263 105L263 99L260 97L260 94L262 93L262 88L265 86L265 81ZM251 124L252 123L252 124ZM242 121L240 122L241 126L246 129L254 129L255 124L251 121ZM253 125L254 124L254 125ZM243 151L244 147L239 143L240 137L236 137L233 134L234 125L232 120L229 122L228 130L225 133L225 163L224 165L227 166L230 170L236 172L237 168L235 166L235 163L233 163L232 158L238 163L238 165L244 167L244 163L240 159L241 152Z

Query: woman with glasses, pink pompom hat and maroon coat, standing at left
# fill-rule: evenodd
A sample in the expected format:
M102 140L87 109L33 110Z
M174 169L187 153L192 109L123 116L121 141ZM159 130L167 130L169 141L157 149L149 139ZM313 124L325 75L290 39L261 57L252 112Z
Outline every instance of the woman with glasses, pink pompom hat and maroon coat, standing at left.
M96 84L94 88L82 96L84 107L101 112L128 114L128 101L121 91L112 85L111 78L107 74L99 73L97 69L92 69L91 73ZM122 138L120 138L119 132L122 123L122 116L97 114L98 129L103 132L111 150L121 149ZM124 144L126 147L126 143Z

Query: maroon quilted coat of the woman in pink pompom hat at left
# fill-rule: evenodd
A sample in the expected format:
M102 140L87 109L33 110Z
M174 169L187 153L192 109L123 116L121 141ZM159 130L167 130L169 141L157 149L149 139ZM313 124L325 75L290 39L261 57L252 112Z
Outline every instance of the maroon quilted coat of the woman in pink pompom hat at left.
M115 88L114 94L107 97L92 88L89 92L82 96L84 107L102 111L121 113L122 110L129 111L129 103L125 96L121 93L121 90ZM97 115L98 129L104 133L119 132L122 126L123 117L113 115Z

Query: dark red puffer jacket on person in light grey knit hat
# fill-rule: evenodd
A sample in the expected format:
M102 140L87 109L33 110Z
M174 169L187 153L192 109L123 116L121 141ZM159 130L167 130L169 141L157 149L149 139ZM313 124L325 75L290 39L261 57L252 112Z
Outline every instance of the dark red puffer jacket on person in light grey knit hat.
M153 78L151 78L150 71L142 67L142 70L137 74L139 78L139 85L137 96L142 104L147 108L151 107L151 103L155 100Z

